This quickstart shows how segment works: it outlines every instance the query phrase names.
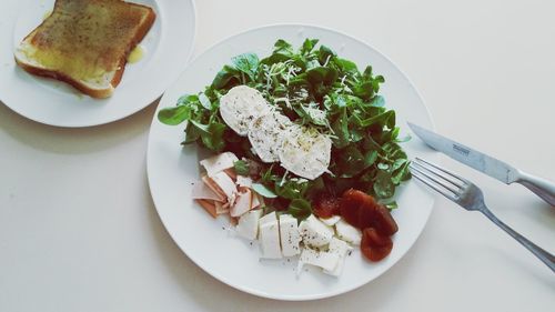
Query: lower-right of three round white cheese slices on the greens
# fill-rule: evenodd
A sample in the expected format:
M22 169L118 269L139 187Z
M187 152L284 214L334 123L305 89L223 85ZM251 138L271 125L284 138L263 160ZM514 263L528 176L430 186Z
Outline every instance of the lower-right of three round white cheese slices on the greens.
M296 175L314 180L327 171L332 140L313 128L295 129L283 139L280 149L281 165Z

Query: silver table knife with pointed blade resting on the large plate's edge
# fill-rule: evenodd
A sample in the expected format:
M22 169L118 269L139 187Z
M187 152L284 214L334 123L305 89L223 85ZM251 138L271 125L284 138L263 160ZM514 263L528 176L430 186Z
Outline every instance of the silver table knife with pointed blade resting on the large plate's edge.
M481 171L505 184L521 183L551 205L555 205L555 183L525 173L498 159L407 122L411 130L432 149Z

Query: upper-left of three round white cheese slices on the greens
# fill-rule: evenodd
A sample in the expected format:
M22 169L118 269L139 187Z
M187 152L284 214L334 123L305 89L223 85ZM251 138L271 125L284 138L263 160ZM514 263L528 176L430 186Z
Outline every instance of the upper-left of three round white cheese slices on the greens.
M246 137L251 122L270 108L262 94L248 85L234 87L220 99L223 121L241 137Z

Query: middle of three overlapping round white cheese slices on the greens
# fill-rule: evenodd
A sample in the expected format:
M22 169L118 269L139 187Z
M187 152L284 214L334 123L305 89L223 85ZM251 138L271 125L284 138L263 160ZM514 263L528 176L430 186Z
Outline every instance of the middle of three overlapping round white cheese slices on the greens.
M249 128L249 141L263 162L280 160L279 151L283 144L285 130L293 123L278 111L256 118Z

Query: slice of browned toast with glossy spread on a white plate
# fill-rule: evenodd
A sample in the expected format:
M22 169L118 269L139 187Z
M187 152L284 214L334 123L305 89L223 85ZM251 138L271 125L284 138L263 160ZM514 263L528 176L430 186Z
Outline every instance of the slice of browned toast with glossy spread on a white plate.
M16 48L16 62L92 98L108 98L154 19L151 8L121 0L57 0L50 17Z

